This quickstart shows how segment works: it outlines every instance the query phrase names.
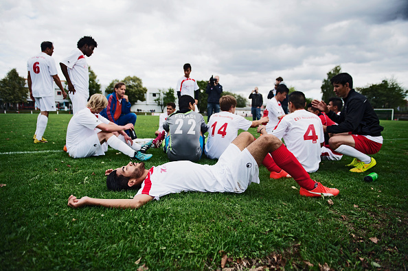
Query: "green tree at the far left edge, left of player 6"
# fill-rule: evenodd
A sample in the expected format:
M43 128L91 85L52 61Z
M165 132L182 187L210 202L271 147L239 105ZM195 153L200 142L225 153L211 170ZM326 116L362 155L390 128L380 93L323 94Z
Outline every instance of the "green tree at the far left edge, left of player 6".
M10 70L0 80L0 99L5 109L8 104L19 104L27 102L28 89L24 87L25 78L21 77L16 69Z

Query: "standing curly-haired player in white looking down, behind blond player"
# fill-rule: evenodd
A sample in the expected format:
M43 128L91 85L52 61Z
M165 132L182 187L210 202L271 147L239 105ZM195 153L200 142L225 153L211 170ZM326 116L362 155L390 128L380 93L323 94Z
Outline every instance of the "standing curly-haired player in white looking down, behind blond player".
M98 46L91 36L84 36L78 40L77 49L60 62L61 70L67 80L68 94L72 102L73 114L87 107L89 98L89 70L87 60L93 49Z

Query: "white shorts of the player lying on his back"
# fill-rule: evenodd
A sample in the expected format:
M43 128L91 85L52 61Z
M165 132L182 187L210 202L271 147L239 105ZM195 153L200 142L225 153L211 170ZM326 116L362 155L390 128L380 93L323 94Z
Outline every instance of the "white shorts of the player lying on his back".
M235 144L229 144L213 167L214 174L225 185L228 192L242 193L251 182L259 183L259 169L255 159L246 148L240 151Z

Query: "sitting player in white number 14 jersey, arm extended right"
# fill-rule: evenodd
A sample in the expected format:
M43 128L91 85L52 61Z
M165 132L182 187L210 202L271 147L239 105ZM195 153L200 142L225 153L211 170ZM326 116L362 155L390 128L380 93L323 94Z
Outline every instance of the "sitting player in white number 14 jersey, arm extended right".
M268 117L262 117L258 121L249 121L236 115L236 99L230 95L220 97L220 108L222 112L212 115L207 123L208 139L205 144L205 155L210 159L220 158L238 135L238 130L247 131L250 127L257 127L269 121Z

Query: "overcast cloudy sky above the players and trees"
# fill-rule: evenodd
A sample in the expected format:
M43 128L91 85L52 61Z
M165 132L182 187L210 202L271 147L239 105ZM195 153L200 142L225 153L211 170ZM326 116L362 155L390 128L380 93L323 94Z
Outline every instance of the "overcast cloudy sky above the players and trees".
M282 76L320 98L336 65L354 86L394 77L408 87L407 0L0 0L0 34L0 78L12 68L26 78L44 40L58 65L93 36L87 62L103 85L136 75L148 89L175 89L189 62L191 78L219 75L245 97L255 86L266 96Z

